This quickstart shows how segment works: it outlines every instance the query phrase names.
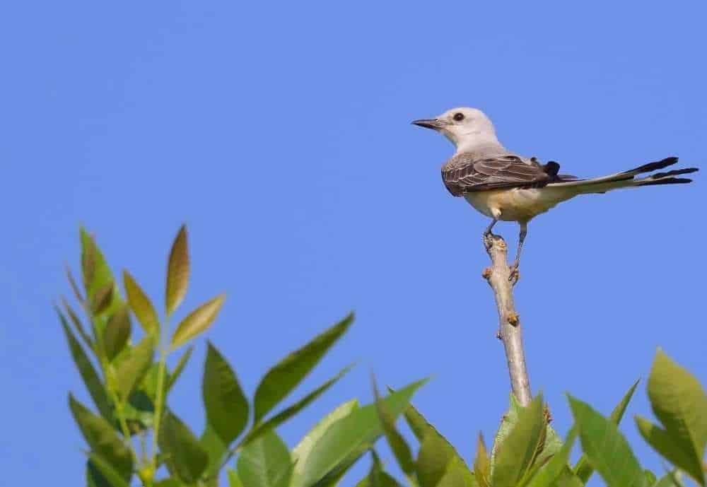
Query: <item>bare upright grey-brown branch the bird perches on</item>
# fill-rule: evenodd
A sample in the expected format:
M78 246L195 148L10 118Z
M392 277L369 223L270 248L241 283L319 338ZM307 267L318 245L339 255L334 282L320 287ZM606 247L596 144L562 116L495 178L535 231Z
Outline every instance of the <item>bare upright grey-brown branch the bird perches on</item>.
M530 380L525 368L520 317L518 317L513 303L513 286L518 281L518 277L511 278L507 261L508 246L503 237L493 234L484 237L484 247L491 257L491 266L484 269L483 276L493 289L496 307L498 307L498 334L496 336L503 341L503 347L506 348L510 387L518 402L526 406L532 399Z

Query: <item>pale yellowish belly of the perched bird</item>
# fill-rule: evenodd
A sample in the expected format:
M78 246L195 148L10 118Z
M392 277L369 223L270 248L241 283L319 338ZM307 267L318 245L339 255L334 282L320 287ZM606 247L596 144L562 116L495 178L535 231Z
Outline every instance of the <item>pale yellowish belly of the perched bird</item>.
M492 189L464 195L464 199L477 211L502 221L529 221L568 197L565 192L548 187Z

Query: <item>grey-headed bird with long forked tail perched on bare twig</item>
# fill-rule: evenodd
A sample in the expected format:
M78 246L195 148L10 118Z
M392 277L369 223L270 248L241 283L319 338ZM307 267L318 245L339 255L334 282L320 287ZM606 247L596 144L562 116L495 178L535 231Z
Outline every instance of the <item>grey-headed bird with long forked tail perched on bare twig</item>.
M442 181L452 196L463 197L474 209L491 218L484 230L484 241L493 237L493 226L498 221L514 221L520 225L518 249L509 266L510 281L518 279L520 254L532 218L580 194L684 184L692 180L678 176L699 170L655 172L677 163L677 157L669 157L612 175L580 179L560 174L560 165L553 160L542 163L536 157L508 151L498 141L491 119L477 108L452 108L436 118L411 123L438 131L454 144L454 155L442 166ZM653 174L647 175L650 172Z

